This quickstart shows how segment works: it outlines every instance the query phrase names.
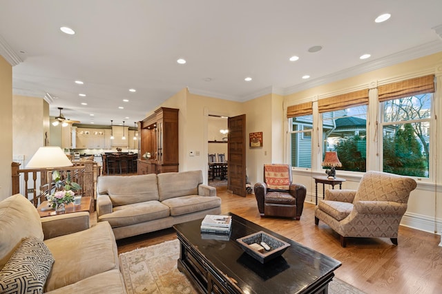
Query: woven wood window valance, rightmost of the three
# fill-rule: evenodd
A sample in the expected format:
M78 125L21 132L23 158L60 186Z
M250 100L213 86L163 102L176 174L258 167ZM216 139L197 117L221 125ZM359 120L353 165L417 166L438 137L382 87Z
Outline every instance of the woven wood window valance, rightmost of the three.
M379 102L434 92L434 74L378 87Z

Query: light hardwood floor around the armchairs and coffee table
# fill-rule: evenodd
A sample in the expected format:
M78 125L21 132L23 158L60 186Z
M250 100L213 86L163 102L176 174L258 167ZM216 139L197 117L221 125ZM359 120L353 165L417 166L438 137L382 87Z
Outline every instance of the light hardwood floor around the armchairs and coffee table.
M260 218L255 196L246 198L218 190L222 212L236 213L302 245L342 262L335 271L340 280L367 293L442 293L442 247L439 235L402 227L398 246L388 238L349 238L340 246L339 236L326 224L314 224L314 204L305 203L300 221ZM118 252L132 251L176 238L173 229L118 240Z

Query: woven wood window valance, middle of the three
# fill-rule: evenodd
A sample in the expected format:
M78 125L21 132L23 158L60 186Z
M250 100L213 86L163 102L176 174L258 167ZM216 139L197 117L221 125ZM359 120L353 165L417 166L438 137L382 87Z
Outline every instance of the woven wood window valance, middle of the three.
M359 105L368 104L368 89L358 90L318 100L318 112L334 112Z

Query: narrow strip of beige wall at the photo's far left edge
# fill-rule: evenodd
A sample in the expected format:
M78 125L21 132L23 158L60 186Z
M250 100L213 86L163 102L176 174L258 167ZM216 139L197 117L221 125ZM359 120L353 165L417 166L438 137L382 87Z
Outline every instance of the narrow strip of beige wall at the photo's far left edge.
M0 56L0 200L12 193L12 66Z

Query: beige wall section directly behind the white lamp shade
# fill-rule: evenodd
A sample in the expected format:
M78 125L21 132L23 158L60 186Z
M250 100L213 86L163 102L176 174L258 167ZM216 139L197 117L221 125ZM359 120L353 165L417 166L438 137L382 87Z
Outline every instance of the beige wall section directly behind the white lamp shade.
M25 168L39 147L49 143L49 105L43 98L12 96L13 155L24 155Z

